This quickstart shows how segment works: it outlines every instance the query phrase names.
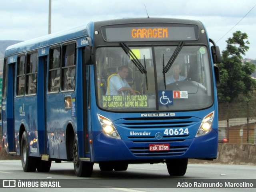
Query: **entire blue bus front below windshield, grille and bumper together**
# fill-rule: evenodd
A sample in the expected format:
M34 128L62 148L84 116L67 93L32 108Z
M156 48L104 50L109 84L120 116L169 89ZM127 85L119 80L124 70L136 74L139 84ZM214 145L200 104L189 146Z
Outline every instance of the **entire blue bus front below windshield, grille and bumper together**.
M205 116L212 112L214 108L204 110ZM202 116L200 112L187 112L186 116L191 116L186 121L182 118L183 113L176 113L176 117L180 117L176 120L143 120L138 118L140 114L126 114L125 119L117 119L116 114L104 114L101 115L113 120L113 123L120 134L122 140L113 139L100 131L100 125L94 125L94 128L98 127L99 131L94 132L95 136L93 140L94 144L94 161L112 161L112 160L157 160L168 158L216 158L217 157L217 140L218 140L218 126L216 126L216 120L214 120L212 126L213 130L204 135L195 138L195 135L200 127L202 119L197 118L196 115ZM202 113L202 112L201 112ZM140 120L134 120L136 117ZM131 118L133 121L129 122L127 119ZM171 118L170 118L171 119ZM216 118L215 118L216 119ZM166 122L166 124L159 124L159 122ZM183 122L182 122L183 121ZM96 122L92 121L92 122ZM175 123L176 122L176 123ZM171 123L171 124L170 124ZM136 126L137 124L137 126ZM146 125L146 126L144 126ZM139 128L142 126L142 128ZM155 126L155 127L154 127ZM189 136L164 136L165 130L171 128L188 128ZM134 133L139 135L134 136ZM156 133L161 133L163 138L157 140ZM149 151L149 144L170 144L170 150L166 151ZM118 154L118 156L117 156ZM116 159L118 158L118 159Z

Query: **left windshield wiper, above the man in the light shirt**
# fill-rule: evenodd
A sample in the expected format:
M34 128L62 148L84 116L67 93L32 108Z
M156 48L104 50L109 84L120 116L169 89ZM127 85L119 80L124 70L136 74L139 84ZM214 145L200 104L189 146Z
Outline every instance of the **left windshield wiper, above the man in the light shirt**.
M144 66L142 65L142 63L140 62L140 60L138 60L138 58L136 57L136 55L134 54L134 52L129 48L129 46L124 43L121 42L120 43L124 52L126 52L126 54L128 54L129 56L131 56L131 60L134 63L134 65L138 68L138 70L140 70L140 72L146 75L146 86L147 86L147 90L148 90L148 76L147 76L147 69L146 69L146 60L145 60L145 55L144 55Z

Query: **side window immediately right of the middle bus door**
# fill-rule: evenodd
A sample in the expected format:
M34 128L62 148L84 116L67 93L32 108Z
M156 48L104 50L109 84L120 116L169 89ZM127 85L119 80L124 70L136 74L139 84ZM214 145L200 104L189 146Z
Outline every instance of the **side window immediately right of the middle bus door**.
M59 92L60 90L60 47L50 50L48 91Z

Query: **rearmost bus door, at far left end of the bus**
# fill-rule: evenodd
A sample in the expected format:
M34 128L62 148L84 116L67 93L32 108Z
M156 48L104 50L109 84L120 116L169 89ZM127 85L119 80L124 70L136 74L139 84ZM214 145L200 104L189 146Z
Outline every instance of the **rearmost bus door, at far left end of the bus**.
M14 76L15 63L8 64L5 60L5 79L3 92L3 136L4 147L9 154L16 154L14 131Z

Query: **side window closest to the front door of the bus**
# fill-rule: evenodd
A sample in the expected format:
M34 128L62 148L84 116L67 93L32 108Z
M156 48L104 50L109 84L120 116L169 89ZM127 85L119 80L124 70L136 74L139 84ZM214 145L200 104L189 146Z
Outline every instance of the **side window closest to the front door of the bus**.
M76 44L63 46L62 90L74 90L76 85Z

